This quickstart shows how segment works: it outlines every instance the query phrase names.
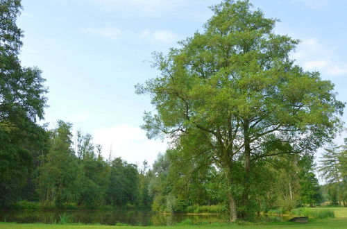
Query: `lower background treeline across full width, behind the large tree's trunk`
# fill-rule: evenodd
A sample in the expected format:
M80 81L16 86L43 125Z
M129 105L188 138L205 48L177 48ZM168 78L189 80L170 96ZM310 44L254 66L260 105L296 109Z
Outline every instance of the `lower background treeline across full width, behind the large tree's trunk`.
M138 167L121 158L105 160L102 147L93 143L92 135L78 131L74 137L71 128L71 124L58 121L57 128L37 128L28 139L23 138L21 130L7 128L8 137L12 137L13 146L17 144L20 153L8 160L10 157L6 158L5 151L1 151L1 169L5 171L1 173L1 207L18 207L18 201L33 201L41 207L56 208L130 206L169 213L228 212L223 173L214 164L204 164L203 158L169 149L158 155L153 166L146 161ZM344 160L346 146L325 149L325 164L319 171L328 184L321 187L310 154L276 155L264 160L251 177L253 209L248 211L289 211L325 201L346 205ZM243 176L242 171L234 175L239 182L240 198ZM203 209L203 205L210 207Z

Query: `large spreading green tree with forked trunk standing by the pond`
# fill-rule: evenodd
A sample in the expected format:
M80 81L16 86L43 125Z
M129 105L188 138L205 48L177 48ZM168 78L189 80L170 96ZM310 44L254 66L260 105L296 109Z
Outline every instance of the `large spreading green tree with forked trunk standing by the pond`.
M161 74L137 85L137 93L150 94L156 108L144 114L148 137L165 133L223 171L235 221L236 203L248 205L253 165L314 151L339 128L344 103L330 81L289 58L298 40L273 33L276 19L249 1L226 0L212 10L203 32L167 56L155 53Z

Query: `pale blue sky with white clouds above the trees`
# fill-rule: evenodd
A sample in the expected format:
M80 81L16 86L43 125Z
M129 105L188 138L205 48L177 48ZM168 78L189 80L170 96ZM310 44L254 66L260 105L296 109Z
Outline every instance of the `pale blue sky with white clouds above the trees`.
M320 71L347 100L347 1L253 0L266 17L280 19L276 33L301 40L291 57ZM149 140L139 126L154 110L137 83L158 76L152 52L167 53L179 40L203 31L214 0L22 0L22 65L42 69L49 87L44 123L62 119L102 144L103 155L150 164L167 142ZM345 110L346 112L346 110ZM347 123L347 115L342 119ZM346 126L346 125L345 125ZM342 144L343 137L336 139Z

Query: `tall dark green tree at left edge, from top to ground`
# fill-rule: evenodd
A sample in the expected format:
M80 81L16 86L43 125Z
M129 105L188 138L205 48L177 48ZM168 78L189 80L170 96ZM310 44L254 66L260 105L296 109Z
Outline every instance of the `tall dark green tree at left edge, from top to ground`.
M35 121L43 118L47 90L40 69L22 67L18 58L21 7L19 0L0 0L0 206L33 196L28 180L45 151L45 132Z

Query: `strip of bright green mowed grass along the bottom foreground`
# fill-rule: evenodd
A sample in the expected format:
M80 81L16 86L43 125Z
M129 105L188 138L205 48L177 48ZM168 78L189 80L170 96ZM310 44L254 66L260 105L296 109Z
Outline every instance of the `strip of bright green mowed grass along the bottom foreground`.
M103 226L103 225L85 225L85 224L44 224L44 223L0 223L0 228L75 228L75 229L103 229L103 228L125 228L125 229L198 229L198 228L316 228L316 229L328 229L328 228L347 228L347 207L314 207L311 210L322 210L329 209L335 212L335 218L329 219L310 219L309 223L216 223L216 224L205 224L205 225L185 225L185 226Z

